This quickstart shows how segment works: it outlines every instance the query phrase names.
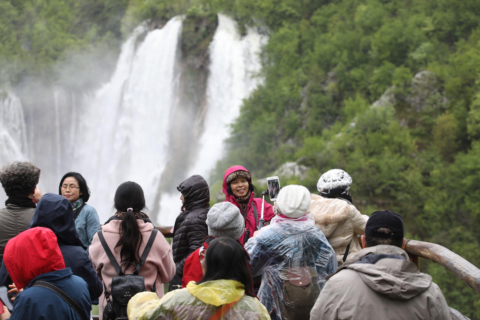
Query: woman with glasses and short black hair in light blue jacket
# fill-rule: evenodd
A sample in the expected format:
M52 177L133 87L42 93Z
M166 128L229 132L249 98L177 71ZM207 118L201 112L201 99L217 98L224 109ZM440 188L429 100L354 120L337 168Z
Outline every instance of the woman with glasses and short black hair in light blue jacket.
M88 248L93 236L100 230L100 220L95 208L86 204L90 199L90 190L84 177L78 172L66 173L60 180L59 194L72 203L78 237Z

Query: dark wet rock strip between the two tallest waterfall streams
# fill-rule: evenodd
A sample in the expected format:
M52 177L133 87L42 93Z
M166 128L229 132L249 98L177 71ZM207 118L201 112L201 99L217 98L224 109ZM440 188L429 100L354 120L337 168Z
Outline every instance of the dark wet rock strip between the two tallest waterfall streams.
M171 131L171 160L162 174L163 186L176 184L175 177L182 177L185 167L189 167L192 154L198 145L193 143L203 132L206 114L206 86L210 56L208 47L215 35L218 18L214 13L190 12L183 20L181 38L178 45L180 68L178 79L179 100L172 114L174 123L192 123L185 130L177 126Z

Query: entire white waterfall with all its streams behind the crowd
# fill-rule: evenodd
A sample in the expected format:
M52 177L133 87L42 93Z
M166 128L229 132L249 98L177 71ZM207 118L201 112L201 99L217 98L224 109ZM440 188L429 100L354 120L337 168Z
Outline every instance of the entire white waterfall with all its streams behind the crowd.
M196 162L185 168L185 177L168 186L170 192L160 194L160 212L150 212L158 225L173 225L180 212L176 186L182 179L191 174L208 178L223 155L228 125L260 81L254 75L266 38L252 30L240 37L226 16L219 15L218 22L209 48L204 131L197 141L198 154L191 154ZM180 125L192 127L172 121L179 101L181 24L175 17L162 29L137 27L123 44L109 82L96 92L79 94L59 87L43 100L32 102L12 93L1 99L0 165L15 159L34 162L42 170L44 193L58 192L64 173L80 172L91 190L88 203L102 223L112 213L118 185L127 180L142 186L149 208L158 207L153 201L171 156L170 133ZM0 194L0 203L5 199Z

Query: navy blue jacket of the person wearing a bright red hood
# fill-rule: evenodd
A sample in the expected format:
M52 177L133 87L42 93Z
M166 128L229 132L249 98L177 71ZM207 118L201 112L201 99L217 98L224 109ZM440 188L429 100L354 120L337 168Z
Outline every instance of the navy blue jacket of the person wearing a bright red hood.
M13 302L11 320L81 320L78 314L59 295L44 287L30 287L37 280L56 285L71 296L82 308L87 319L92 308L85 282L72 274L70 268L43 273L34 278Z

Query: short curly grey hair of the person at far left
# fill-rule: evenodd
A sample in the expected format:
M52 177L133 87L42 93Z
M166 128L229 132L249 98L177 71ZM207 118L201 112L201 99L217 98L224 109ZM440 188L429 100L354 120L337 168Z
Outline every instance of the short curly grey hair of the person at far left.
M0 168L0 183L7 196L28 196L35 191L40 169L30 161L16 160Z

